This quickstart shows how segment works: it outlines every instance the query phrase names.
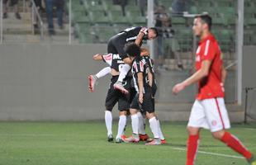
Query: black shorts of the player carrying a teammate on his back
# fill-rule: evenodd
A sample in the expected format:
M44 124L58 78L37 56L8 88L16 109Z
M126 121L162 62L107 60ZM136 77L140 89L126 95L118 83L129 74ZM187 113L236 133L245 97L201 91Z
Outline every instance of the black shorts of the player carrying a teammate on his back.
M129 92L128 94L123 94L119 90L114 89L113 85L117 79L118 76L113 76L111 78L111 84L107 91L107 98L105 101L107 111L112 111L117 101L119 111L127 111L130 108L130 78L125 78L123 82L124 87Z

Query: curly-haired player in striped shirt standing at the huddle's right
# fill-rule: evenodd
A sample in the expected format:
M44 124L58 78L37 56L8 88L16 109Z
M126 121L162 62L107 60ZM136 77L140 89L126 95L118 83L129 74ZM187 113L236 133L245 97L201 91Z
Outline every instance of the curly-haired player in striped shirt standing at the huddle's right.
M152 98L152 87L149 86L148 73L149 66L146 64L145 59L140 56L140 47L135 43L126 45L126 53L133 61L131 72L133 73L133 80L135 83L136 96L130 105L131 126L133 134L126 138L125 142L139 142L139 118L137 115L138 110L145 111L149 119L149 126L154 134L154 139L148 145L161 144L159 132L159 120L154 114L154 100ZM161 131L162 132L162 131Z

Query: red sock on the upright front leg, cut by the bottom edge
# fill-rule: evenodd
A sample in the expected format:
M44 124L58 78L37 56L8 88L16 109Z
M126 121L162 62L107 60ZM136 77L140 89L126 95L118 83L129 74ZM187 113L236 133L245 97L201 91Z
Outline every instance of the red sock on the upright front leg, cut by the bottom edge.
M199 135L189 135L187 139L187 165L193 165L197 155Z

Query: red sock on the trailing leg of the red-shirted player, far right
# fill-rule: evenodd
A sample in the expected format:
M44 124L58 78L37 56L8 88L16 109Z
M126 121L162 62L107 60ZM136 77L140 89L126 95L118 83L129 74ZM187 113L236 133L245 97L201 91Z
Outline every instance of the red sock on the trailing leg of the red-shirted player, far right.
M234 149L237 153L244 155L244 158L249 159L252 157L252 153L250 153L249 150L245 148L239 139L237 139L233 134L225 132L221 141L227 144L230 148Z

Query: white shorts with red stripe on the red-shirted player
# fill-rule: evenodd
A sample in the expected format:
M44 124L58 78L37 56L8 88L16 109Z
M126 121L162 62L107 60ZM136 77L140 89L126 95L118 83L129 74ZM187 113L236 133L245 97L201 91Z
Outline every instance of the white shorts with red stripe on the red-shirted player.
M211 132L230 129L230 119L223 98L196 100L187 126L210 129Z

